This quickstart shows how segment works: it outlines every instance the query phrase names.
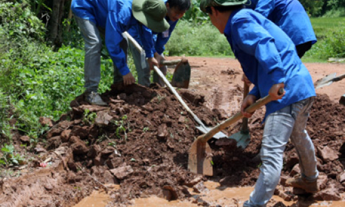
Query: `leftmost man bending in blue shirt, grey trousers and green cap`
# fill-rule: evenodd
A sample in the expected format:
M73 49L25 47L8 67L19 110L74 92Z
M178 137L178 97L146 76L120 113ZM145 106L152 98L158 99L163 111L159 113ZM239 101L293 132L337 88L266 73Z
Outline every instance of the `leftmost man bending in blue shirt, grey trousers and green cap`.
M91 104L106 106L97 93L101 79L101 34L114 63L114 82L135 83L126 60L122 32L131 26L146 26L155 32L168 30L166 6L161 0L73 0L72 12L85 41L84 95Z

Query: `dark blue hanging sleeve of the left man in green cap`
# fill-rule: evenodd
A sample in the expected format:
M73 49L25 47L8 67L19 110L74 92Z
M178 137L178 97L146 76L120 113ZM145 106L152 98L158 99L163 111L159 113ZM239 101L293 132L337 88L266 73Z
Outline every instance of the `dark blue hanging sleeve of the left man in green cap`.
M121 29L117 21L116 12L109 12L106 22L106 48L112 62L117 66L121 75L127 75L130 70L127 66L126 54L120 48L120 42L124 39L121 34Z

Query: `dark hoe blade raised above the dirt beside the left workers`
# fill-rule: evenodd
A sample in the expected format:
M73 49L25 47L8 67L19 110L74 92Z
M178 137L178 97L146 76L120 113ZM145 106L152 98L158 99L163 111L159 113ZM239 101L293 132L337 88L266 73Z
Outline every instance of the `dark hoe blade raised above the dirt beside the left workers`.
M171 85L177 88L188 88L190 81L190 65L187 59L180 61L172 75Z

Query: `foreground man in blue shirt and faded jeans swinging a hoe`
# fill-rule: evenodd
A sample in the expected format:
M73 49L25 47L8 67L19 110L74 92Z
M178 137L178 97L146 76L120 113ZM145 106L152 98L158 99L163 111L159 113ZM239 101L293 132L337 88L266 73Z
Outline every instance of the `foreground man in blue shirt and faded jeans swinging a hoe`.
M262 14L244 9L246 0L201 0L213 25L226 36L244 74L255 86L241 105L244 109L270 95L266 104L260 155L262 166L250 199L244 206L266 206L278 184L286 143L290 139L299 155L301 176L286 183L308 193L317 192L317 160L306 121L315 89L311 75L299 59L293 41ZM285 92L279 94L279 89Z

